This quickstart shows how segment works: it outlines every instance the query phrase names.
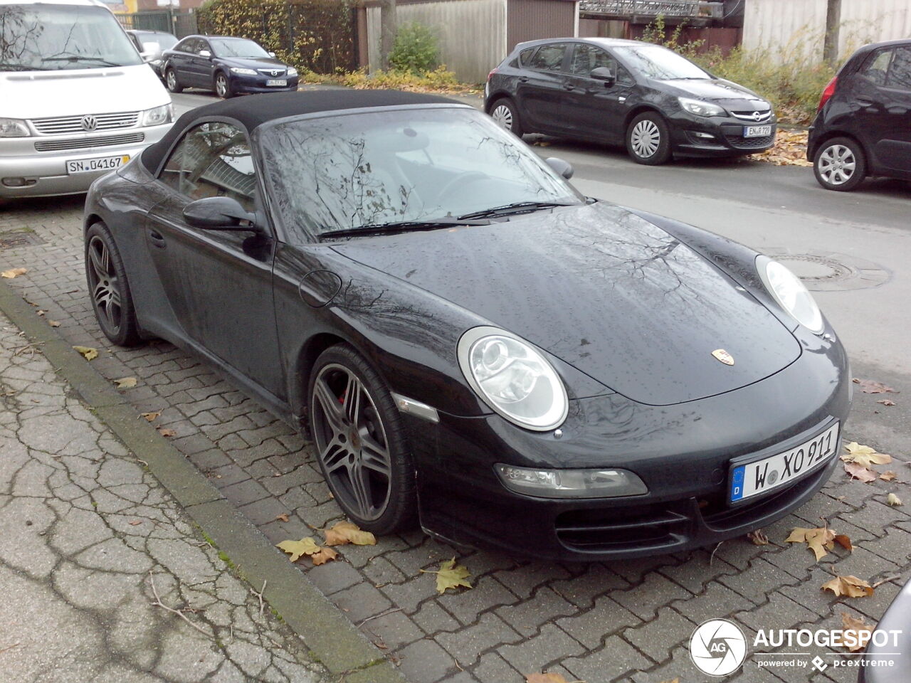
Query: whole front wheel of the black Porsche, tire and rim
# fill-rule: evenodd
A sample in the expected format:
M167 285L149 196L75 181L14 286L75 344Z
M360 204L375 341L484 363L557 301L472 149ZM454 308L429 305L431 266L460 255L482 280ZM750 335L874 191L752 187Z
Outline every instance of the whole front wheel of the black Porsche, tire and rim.
M379 373L351 347L338 344L313 365L307 397L316 459L345 515L381 535L415 525L415 464Z

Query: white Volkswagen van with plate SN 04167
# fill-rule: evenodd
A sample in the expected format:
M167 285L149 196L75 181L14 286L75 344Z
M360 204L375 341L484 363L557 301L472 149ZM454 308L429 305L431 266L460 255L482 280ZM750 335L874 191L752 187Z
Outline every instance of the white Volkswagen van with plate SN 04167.
M0 0L0 198L85 192L173 120L105 5Z

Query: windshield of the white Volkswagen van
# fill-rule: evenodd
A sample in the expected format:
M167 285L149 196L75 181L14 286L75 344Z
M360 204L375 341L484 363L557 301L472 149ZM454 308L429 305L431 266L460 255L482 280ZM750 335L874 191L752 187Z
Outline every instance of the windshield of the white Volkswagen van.
M105 7L0 3L0 71L142 64Z

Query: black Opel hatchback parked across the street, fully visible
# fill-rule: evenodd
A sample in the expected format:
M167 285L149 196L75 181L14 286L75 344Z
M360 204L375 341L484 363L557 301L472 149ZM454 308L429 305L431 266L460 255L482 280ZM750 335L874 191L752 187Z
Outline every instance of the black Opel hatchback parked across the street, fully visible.
M487 76L486 112L517 135L626 145L640 164L771 148L772 105L667 47L637 40L520 43Z

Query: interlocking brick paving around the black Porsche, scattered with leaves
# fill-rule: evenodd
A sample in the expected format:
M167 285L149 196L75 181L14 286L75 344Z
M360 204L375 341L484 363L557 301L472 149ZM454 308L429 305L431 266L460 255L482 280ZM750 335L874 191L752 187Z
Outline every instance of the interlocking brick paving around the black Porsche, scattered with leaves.
M160 411L156 425L173 430L171 443L272 543L312 535L311 526L341 518L308 444L210 366L163 342L124 350L105 341L85 291L80 219L77 200L15 205L0 213L0 233L34 242L0 250L0 267L28 269L12 280L15 290L59 321L68 343L97 347L92 365L98 372L112 380L137 377L138 386L125 392L136 413ZM903 390L902 397L911 391L901 378L876 379ZM875 397L856 398L870 419L891 419L872 414ZM850 423L846 436L885 453L895 447L852 433ZM759 628L840 627L842 612L868 622L882 616L911 578L911 505L885 503L895 492L911 504L911 487L907 468L898 463L893 469L899 470L897 481L874 484L851 481L839 470L809 504L765 530L770 545L736 539L714 552L589 566L477 551L460 557L475 587L445 596L436 595L433 576L420 570L455 551L420 532L386 536L375 546L343 546L340 561L300 568L413 683L520 683L541 670L587 683L675 677L704 683L686 644L705 619L729 617L752 637ZM285 514L287 522L278 518ZM821 518L852 538L852 554L837 551L817 564L805 546L784 543L794 526L822 525ZM820 590L834 572L890 580L875 596L847 600ZM814 654L830 665L846 657L822 648ZM752 660L728 678L855 679L847 668L765 670Z

